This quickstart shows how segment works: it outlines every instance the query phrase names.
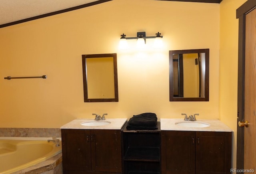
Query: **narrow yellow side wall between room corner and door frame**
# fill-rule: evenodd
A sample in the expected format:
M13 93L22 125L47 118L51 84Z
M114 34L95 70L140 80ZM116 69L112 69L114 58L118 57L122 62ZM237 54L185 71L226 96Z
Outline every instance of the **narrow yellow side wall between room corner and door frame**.
M234 130L233 168L236 167L238 19L236 9L246 0L220 3L220 120Z

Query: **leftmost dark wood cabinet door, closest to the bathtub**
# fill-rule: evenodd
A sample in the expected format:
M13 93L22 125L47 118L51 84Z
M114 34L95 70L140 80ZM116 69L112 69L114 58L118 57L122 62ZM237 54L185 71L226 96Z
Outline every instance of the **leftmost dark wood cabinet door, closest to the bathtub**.
M63 169L91 170L90 130L62 129L61 132Z

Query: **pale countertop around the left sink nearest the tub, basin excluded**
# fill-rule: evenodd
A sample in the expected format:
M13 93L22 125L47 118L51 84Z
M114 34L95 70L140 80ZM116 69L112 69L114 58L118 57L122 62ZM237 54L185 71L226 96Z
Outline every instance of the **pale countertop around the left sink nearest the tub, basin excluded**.
M106 119L95 121L94 119L75 119L70 121L66 125L60 127L60 129L122 129L123 125L126 123L127 119ZM82 123L86 122L110 122L108 125L103 126L83 126Z

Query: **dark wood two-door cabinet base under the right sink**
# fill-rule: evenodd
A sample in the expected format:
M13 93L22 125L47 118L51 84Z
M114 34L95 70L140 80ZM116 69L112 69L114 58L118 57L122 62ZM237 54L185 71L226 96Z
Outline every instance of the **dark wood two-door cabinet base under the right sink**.
M161 131L162 174L230 174L232 132Z

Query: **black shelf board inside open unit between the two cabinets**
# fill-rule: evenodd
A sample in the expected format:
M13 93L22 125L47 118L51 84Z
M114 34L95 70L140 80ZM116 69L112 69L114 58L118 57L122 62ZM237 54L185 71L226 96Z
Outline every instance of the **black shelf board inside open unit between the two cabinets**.
M160 149L156 147L129 147L124 160L130 161L160 161Z

